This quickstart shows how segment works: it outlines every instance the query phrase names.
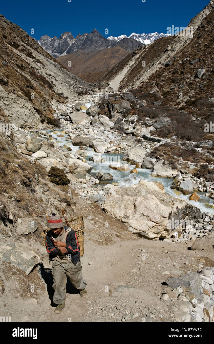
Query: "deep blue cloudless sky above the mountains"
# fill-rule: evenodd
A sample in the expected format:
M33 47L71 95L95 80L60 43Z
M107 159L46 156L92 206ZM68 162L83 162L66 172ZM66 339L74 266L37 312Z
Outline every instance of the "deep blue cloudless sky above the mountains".
M187 26L209 0L8 0L0 12L28 34L40 39L47 34L59 37L70 31L91 32L103 36L129 36L135 33L167 32L167 26ZM105 35L105 29L109 35Z

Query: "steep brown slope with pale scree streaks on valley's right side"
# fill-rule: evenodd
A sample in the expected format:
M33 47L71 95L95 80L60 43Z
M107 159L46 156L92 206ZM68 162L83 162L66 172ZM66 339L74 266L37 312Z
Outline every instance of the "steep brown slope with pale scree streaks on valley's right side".
M162 105L172 105L181 110L204 110L200 99L213 97L214 92L214 9L208 4L189 24L194 27L193 38L188 36L163 37L147 49L136 50L136 61L124 75L119 89L135 89L144 94L148 104L161 100ZM129 54L118 66L106 73L103 86L119 76L130 63ZM145 66L144 66L145 61ZM168 65L164 66L166 62ZM205 68L202 77L196 77L198 69ZM182 95L181 95L182 93ZM183 99L179 99L183 98ZM207 104L207 107L212 104Z

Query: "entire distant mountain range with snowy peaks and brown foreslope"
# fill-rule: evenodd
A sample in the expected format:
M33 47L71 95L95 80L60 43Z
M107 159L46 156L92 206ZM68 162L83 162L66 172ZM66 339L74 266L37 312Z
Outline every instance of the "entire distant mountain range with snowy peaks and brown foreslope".
M44 35L38 42L72 74L87 82L96 82L128 53L165 36L169 35L132 33L129 37L122 35L107 39L94 29L76 37L71 32L64 32L59 38Z

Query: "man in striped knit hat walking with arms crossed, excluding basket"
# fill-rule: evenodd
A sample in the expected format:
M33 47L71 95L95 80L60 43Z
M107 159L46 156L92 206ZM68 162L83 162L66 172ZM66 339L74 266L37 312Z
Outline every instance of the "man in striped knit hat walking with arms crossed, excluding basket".
M82 277L80 250L74 229L64 226L61 218L52 214L48 219L50 230L46 234L46 248L52 260L53 302L57 304L55 313L65 308L67 277L73 286L80 290L80 295L87 298L86 281Z

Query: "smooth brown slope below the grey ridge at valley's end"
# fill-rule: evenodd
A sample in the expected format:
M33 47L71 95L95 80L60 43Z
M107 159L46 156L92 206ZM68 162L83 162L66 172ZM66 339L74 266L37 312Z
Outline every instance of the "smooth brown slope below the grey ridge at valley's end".
M57 60L74 75L94 83L129 53L120 46L100 51L85 52L77 50L69 55L57 57ZM71 61L71 67L68 67Z

